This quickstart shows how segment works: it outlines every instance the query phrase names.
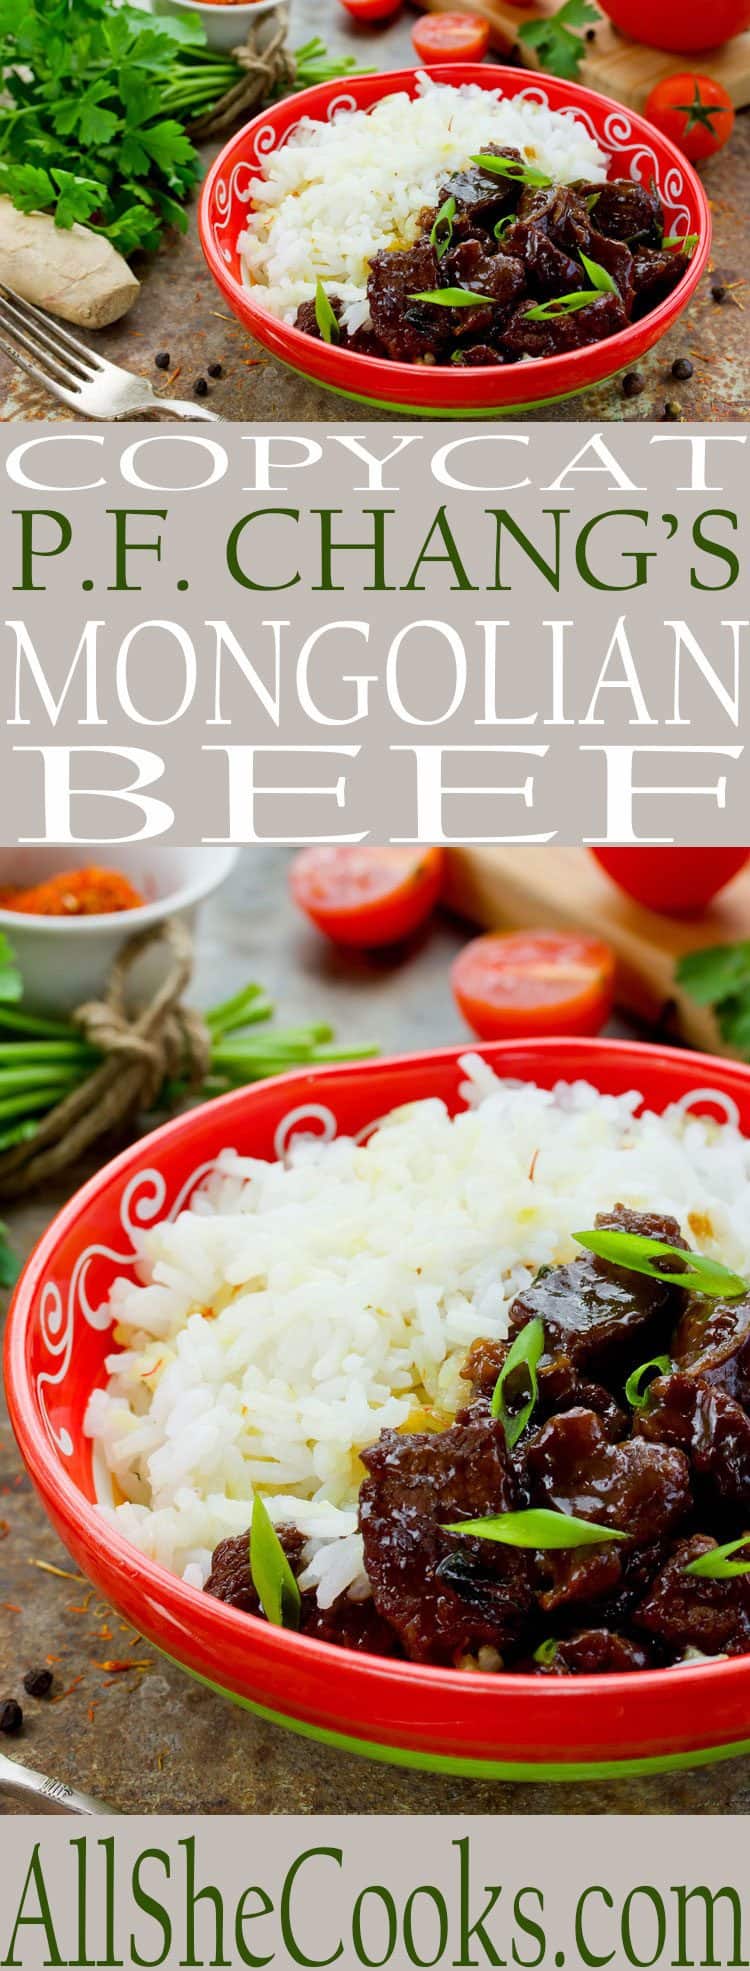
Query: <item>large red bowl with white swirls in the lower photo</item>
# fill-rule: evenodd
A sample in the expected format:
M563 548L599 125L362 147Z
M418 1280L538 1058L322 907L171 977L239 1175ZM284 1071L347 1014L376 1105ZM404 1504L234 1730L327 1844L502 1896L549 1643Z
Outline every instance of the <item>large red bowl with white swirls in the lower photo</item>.
M640 1088L750 1131L750 1068L622 1041L502 1041L474 1049L510 1076L551 1088L585 1076L606 1094ZM14 1431L61 1539L128 1622L197 1677L260 1717L400 1766L502 1780L630 1776L750 1750L750 1656L638 1675L467 1675L270 1628L185 1587L112 1531L94 1508L89 1392L104 1382L102 1297L132 1269L132 1228L177 1212L234 1143L278 1157L297 1129L368 1131L419 1096L461 1108L451 1047L402 1060L317 1068L242 1088L156 1129L71 1198L39 1240L8 1319Z

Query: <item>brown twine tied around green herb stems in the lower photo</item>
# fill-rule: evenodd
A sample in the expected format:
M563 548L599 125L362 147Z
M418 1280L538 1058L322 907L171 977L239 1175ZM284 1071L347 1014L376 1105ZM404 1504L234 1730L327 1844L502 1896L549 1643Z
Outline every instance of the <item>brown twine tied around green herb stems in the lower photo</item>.
M169 970L146 1005L128 1011L128 978L138 960L169 948ZM102 1054L87 1080L63 1096L28 1143L0 1153L0 1196L22 1196L31 1185L59 1177L98 1137L150 1110L163 1082L179 1074L193 1088L211 1064L211 1035L181 995L193 972L193 940L179 918L142 930L118 952L104 999L73 1013L73 1025Z

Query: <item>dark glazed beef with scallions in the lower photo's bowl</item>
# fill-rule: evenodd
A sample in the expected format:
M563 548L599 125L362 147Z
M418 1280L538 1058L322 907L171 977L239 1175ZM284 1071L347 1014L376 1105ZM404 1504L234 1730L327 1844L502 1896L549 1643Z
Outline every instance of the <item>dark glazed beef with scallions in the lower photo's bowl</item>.
M604 217L630 225L614 187ZM364 1593L321 1608L297 1589L303 1634L547 1677L750 1650L750 1293L726 1273L722 1297L720 1267L695 1291L671 1216L616 1204L587 1240L622 1263L541 1267L508 1338L470 1348L455 1421L362 1451ZM272 1539L293 1587L305 1535ZM207 1593L264 1612L248 1531L219 1543Z

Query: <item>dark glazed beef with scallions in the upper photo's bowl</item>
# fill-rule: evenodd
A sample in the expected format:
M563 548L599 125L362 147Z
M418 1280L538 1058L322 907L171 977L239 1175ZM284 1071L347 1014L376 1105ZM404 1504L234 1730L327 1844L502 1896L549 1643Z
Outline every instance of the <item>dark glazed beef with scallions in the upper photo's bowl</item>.
M413 244L372 256L364 325L348 327L344 300L319 282L295 327L396 363L520 363L618 335L687 264L656 189L559 185L520 150L486 144L445 179Z

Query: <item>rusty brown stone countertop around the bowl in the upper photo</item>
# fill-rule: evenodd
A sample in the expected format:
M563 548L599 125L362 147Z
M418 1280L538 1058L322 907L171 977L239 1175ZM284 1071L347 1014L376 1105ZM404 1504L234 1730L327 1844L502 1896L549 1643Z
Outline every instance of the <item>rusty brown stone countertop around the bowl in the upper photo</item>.
M362 67L411 67L411 10L406 6L394 22L362 30L348 20L339 0L293 0L291 45L301 45L311 34L319 34L331 49L354 53ZM219 144L205 148L205 164L217 150ZM703 280L687 315L640 363L642 394L626 400L622 378L612 378L553 410L526 412L524 422L659 420L665 402L677 404L681 416L693 422L748 416L750 357L742 288L736 290L736 300L717 304L711 300L711 280L719 278L728 286L750 274L750 112L738 116L730 146L711 160L703 175L713 205L715 272ZM195 378L205 374L209 363L220 363L222 376L211 380L205 402L232 422L339 420L358 426L370 420L382 422L382 412L319 390L252 341L228 313L205 266L195 205L187 238L175 235L163 244L144 270L136 307L122 323L100 331L96 347L112 363L124 363L157 382L159 390L165 378L154 367L154 357L159 349L167 349L171 359L167 392L175 396L191 396ZM675 382L671 363L685 355L691 357L695 374L689 382ZM67 420L71 412L0 357L0 420L35 418ZM400 420L390 414L386 422Z

